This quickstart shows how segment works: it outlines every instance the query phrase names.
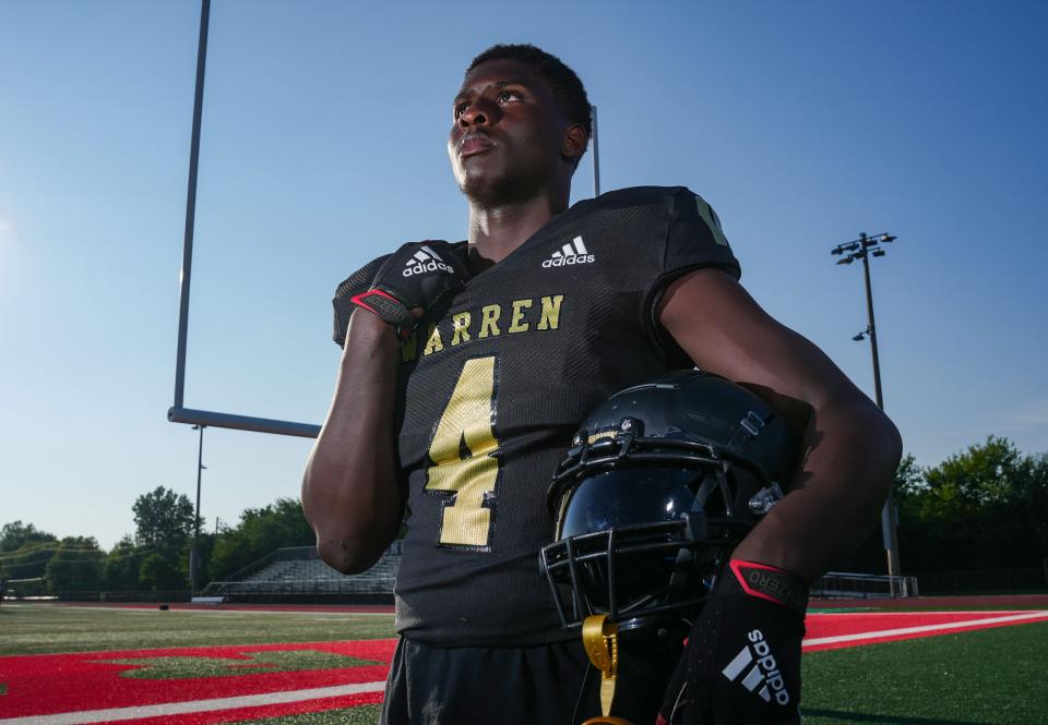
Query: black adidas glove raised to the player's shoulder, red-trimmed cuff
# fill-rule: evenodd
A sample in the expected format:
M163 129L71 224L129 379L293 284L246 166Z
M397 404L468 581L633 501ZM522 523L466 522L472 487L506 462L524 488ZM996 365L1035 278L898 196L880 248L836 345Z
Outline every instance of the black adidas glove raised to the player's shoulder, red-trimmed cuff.
M379 267L371 289L354 295L350 301L392 325L403 341L418 325L413 310L420 307L425 315L467 279L466 265L448 242L410 242Z

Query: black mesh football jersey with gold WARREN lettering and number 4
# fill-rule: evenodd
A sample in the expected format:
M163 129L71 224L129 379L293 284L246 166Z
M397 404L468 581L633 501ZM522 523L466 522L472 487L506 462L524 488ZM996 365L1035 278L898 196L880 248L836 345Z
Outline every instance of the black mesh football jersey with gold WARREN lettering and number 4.
M337 300L367 289L384 258L340 286L337 341L349 314ZM692 366L654 310L666 285L708 266L739 277L702 197L623 189L557 215L422 322L401 351L395 421L403 636L444 647L577 637L538 569L553 533L547 488L591 409Z

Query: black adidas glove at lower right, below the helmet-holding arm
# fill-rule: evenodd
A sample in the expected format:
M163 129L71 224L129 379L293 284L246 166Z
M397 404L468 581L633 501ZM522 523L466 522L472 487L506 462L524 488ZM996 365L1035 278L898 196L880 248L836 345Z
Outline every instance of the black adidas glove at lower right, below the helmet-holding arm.
M733 559L695 620L659 725L798 725L808 588Z

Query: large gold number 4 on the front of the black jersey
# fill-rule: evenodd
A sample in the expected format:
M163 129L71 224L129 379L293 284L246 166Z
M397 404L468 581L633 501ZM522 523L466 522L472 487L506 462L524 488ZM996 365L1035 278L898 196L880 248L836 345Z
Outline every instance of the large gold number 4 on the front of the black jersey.
M495 437L496 359L463 365L429 446L426 492L446 496L440 546L488 548L499 442Z

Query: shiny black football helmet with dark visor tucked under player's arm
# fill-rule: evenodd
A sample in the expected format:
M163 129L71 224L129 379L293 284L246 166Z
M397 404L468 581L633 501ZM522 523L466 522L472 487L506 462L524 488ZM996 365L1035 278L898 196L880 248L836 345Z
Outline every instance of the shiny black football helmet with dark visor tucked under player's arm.
M700 371L615 394L582 423L549 490L540 565L565 627L679 630L783 496L799 437L762 398Z

